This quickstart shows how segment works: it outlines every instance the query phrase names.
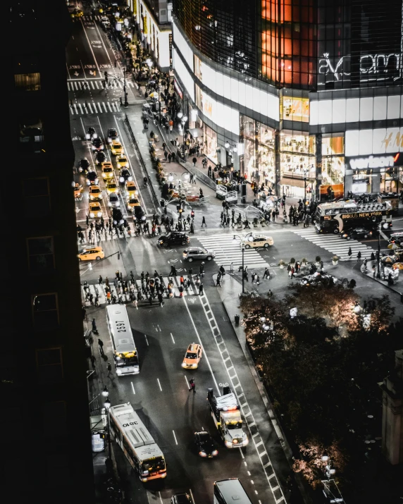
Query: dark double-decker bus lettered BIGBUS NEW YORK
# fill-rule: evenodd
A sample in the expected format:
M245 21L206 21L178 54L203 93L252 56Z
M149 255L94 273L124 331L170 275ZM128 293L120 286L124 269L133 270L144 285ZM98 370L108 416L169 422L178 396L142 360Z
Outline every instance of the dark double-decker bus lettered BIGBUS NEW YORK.
M390 202L356 204L353 201L339 201L318 204L315 213L315 229L318 233L342 233L352 228L378 228L378 223L386 221L392 227L392 207Z

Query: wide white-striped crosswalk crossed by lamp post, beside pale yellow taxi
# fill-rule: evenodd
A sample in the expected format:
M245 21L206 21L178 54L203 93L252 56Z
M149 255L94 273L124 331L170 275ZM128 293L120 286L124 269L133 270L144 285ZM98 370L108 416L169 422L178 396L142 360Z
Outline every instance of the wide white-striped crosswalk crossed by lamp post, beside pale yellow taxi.
M198 236L199 242L206 249L216 252L215 261L221 266L230 266L233 263L234 269L242 265L242 250L240 240L234 240L233 235L212 235ZM268 263L254 249L244 251L244 265L248 268L266 268Z

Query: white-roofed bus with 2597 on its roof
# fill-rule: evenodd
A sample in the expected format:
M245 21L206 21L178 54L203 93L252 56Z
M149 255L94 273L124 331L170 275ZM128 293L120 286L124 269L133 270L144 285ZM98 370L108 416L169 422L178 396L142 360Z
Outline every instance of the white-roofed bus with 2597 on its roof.
M106 319L113 346L116 374L125 376L126 374L139 373L139 356L126 307L124 305L107 306Z

